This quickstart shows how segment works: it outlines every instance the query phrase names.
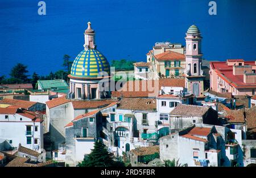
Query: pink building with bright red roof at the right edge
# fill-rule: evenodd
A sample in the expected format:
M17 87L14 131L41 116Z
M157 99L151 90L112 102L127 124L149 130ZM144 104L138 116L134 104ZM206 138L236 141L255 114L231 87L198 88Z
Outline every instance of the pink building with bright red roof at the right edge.
M255 95L256 61L210 62L210 89L233 95Z

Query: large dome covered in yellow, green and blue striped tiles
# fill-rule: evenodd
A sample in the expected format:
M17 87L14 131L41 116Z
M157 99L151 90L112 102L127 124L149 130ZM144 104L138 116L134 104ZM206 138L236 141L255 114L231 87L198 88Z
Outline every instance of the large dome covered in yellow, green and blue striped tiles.
M82 50L71 67L73 77L98 77L100 71L106 71L110 74L110 65L103 54L96 49Z

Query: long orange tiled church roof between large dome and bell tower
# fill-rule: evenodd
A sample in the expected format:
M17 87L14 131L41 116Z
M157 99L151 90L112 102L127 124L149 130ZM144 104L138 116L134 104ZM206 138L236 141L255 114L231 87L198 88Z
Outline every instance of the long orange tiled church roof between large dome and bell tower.
M168 78L159 80L130 80L121 90L112 92L113 97L156 97L161 87L185 87L185 79Z

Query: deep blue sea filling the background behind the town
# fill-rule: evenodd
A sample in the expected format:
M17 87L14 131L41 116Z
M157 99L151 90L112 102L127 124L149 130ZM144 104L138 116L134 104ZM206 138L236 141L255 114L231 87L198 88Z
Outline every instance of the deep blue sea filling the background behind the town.
M90 20L97 48L111 60L146 61L157 41L185 44L192 24L203 36L207 60L255 60L256 1L218 0L209 15L208 0L0 0L0 75L18 62L30 74L63 69L63 55L72 60L84 45Z

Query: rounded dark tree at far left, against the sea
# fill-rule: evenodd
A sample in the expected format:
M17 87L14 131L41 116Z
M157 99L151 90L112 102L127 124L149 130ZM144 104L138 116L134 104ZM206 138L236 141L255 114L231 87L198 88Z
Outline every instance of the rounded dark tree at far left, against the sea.
M23 65L22 63L17 63L13 69L11 69L11 79L10 82L12 83L26 83L28 82L28 70L27 66Z

